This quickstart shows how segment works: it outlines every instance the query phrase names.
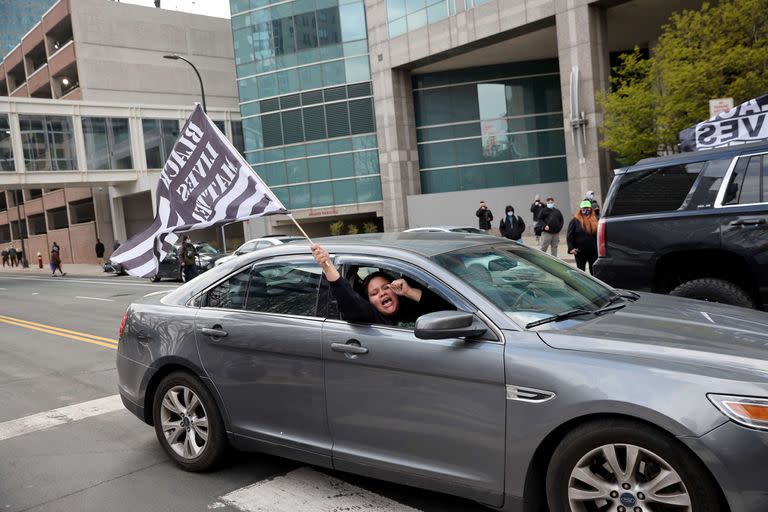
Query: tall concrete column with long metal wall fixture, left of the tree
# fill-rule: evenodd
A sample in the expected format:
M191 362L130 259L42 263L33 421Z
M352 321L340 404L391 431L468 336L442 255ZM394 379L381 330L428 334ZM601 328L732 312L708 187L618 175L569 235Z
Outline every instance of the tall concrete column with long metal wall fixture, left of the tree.
M560 0L555 14L557 47L560 60L560 86L565 118L565 151L568 163L569 204L559 198L561 209L572 212L588 190L594 190L602 204L610 184L608 151L600 149L598 126L603 113L598 109L595 94L609 85L610 63L606 43L606 12L603 7L588 5L583 0ZM579 112L571 112L571 72L579 68L579 107L587 124L583 158L579 158L573 140L570 120ZM579 130L579 132L581 131ZM582 137L581 133L577 133Z

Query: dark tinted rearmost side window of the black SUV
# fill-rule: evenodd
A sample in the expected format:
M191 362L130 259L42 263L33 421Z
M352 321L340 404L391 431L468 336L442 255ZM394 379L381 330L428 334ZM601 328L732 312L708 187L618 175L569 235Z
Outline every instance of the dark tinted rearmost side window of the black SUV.
M637 215L680 209L704 167L703 162L629 172L619 182L610 215Z

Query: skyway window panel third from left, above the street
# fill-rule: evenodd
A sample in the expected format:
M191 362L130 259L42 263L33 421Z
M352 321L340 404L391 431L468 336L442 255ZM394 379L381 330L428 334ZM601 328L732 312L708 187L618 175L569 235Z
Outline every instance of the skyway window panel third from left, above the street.
M127 118L84 117L83 136L89 169L133 168Z

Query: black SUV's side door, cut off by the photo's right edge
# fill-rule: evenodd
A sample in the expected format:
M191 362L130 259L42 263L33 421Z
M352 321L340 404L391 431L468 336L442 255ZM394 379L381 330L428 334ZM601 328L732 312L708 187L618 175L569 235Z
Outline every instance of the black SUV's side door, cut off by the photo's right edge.
M768 154L740 157L726 183L718 198L722 247L749 262L768 304Z

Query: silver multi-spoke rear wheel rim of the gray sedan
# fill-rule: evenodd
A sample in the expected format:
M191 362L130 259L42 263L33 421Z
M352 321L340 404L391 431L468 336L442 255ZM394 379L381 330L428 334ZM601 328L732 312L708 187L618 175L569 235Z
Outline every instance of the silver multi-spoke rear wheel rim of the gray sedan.
M191 389L175 386L160 404L160 426L168 446L180 457L192 460L208 444L208 415L200 398Z

